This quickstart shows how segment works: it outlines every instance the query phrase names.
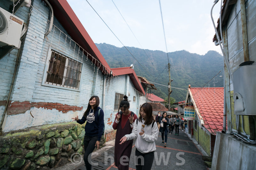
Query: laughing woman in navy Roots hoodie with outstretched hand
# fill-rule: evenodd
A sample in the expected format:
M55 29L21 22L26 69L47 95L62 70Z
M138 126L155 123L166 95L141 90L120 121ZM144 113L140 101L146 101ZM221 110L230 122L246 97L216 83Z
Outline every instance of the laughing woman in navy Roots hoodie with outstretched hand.
M100 138L104 129L104 112L99 107L99 104L99 97L92 96L82 119L78 119L78 116L72 118L79 124L84 124L84 122L87 121L84 127L84 163L86 170L92 169L92 165L89 163L88 157L94 150L95 146L99 149Z

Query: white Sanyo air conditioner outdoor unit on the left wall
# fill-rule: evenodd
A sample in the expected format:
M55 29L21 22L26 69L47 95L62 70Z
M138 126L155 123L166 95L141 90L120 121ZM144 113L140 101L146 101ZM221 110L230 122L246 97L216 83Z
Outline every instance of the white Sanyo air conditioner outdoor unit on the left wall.
M0 46L20 48L20 35L24 21L0 8Z

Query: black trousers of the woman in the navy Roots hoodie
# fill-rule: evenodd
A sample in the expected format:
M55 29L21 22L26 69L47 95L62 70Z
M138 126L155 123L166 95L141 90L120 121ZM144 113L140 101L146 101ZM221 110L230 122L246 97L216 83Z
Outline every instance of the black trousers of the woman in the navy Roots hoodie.
M92 151L95 148L95 144L97 142L97 136L84 136L84 163L85 163L85 167L86 170L91 170L92 169L92 165L90 164L90 162L88 161L88 157L89 155L92 153ZM89 158L91 160L91 157Z

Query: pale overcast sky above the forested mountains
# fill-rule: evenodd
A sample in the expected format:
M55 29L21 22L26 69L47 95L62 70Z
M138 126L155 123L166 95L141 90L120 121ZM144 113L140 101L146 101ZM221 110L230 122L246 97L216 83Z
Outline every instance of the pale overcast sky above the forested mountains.
M122 47L132 46L166 52L158 0L113 0L132 29L133 36L112 0L67 0L94 43ZM215 34L211 20L213 0L161 0L168 52L186 50L204 55L209 50L221 53L212 38ZM213 9L215 24L219 18L220 1ZM141 46L140 46L141 45ZM222 55L222 53L221 53Z

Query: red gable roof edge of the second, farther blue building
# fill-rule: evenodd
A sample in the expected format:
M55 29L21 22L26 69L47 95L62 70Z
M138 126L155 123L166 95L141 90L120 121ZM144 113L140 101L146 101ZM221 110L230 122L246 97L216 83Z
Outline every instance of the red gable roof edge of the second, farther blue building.
M114 75L125 75L128 74L130 76L130 79L132 80L133 85L135 86L135 88L142 93L143 95L145 95L145 91L142 88L140 81L134 71L134 69L132 69L131 67L120 67L120 68L111 68L112 72Z

